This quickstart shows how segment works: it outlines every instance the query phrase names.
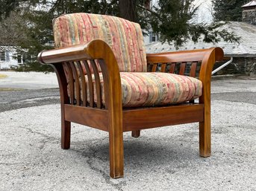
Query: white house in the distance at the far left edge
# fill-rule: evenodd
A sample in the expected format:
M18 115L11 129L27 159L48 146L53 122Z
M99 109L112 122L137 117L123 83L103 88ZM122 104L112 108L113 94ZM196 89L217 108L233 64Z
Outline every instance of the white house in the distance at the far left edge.
M0 46L0 70L8 70L12 66L23 64L22 55L13 47Z

